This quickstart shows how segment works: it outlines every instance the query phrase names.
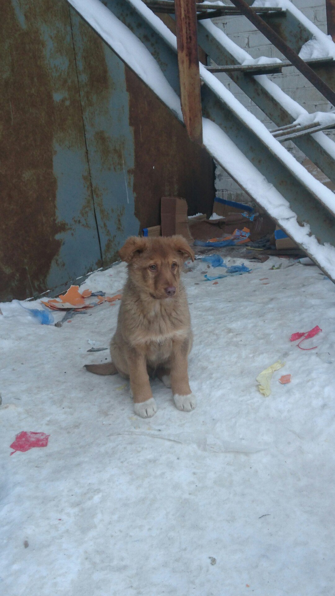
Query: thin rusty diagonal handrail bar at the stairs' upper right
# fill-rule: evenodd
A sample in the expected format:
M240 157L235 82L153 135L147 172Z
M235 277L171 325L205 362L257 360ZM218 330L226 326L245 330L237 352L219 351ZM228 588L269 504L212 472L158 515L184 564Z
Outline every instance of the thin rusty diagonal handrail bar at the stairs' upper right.
M320 76L318 76L317 73L315 73L314 70L312 70L311 67L308 66L308 64L306 64L302 58L299 57L299 55L296 54L296 52L284 41L284 39L277 35L274 29L272 29L262 17L260 17L255 13L255 11L252 10L252 8L250 8L247 2L244 0L231 1L232 4L239 8L241 13L243 13L249 19L250 23L253 23L260 33L263 33L263 35L269 41L271 41L271 44L279 49L279 51L287 58L287 60L290 60L290 62L299 70L299 72L302 73L302 75L305 76L306 79L308 79L309 82L311 82L312 85L314 85L314 87L318 89L318 91L320 91L320 93L335 106L335 92L333 89L331 89L327 83L325 83L324 80L322 80Z

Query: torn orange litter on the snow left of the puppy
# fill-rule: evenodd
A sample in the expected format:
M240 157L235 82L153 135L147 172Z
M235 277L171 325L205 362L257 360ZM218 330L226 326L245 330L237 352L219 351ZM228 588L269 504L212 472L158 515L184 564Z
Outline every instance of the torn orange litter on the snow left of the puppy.
M75 310L93 308L103 302L113 303L115 300L120 300L121 294L116 296L106 296L105 292L92 292L91 290L83 290L83 293L79 292L79 285L72 285L66 294L60 294L58 298L52 298L50 300L41 300L42 304L48 306L52 310ZM57 325L60 327L61 325Z

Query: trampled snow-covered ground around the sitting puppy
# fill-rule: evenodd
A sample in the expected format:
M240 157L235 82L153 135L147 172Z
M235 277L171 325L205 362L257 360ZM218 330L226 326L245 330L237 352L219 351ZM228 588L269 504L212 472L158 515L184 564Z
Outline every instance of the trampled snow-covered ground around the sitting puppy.
M159 411L142 420L122 378L83 370L109 358L87 350L108 346L119 303L61 328L0 315L1 596L334 594L335 291L292 263L185 274L190 414L154 381ZM125 275L82 288L115 294ZM317 349L290 342L315 325L302 347ZM278 359L264 398L256 376ZM48 446L10 457L23 430Z

